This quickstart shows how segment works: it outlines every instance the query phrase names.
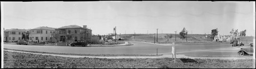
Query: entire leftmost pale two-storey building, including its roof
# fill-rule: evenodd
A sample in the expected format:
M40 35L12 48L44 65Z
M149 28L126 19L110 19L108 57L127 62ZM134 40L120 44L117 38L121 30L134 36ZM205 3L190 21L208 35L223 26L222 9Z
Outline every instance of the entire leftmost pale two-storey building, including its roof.
M4 42L16 42L22 40L23 34L27 34L27 29L6 29L4 30Z

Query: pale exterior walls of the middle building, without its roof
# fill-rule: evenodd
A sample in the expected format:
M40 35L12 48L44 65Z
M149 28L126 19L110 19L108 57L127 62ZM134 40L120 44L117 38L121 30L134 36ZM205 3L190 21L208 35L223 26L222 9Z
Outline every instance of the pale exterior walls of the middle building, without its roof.
M37 33L37 30L41 31L42 33ZM46 33L47 31L47 33ZM47 30L47 29L31 29L29 34L29 42L51 42L51 36L53 34L54 30ZM38 40L36 40L36 37L38 37ZM41 39L42 37L42 39ZM46 40L47 37L47 40Z

